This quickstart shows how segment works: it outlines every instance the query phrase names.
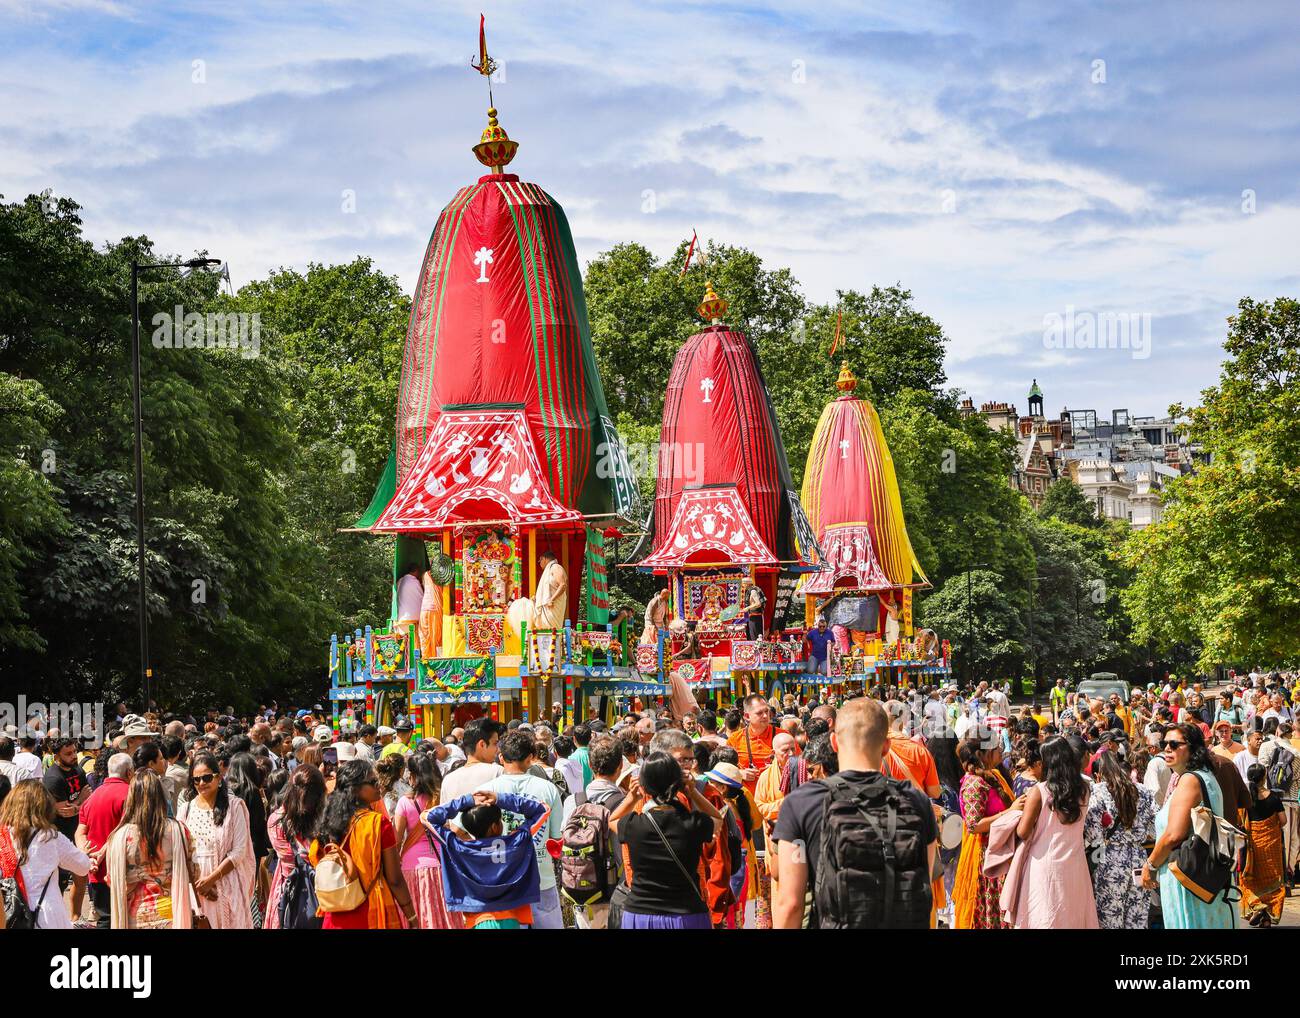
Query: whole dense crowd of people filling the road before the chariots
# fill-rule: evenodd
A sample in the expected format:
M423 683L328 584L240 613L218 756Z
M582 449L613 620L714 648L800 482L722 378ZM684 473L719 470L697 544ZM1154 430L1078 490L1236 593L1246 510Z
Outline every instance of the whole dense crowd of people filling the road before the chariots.
M10 927L1232 928L1300 862L1291 675L337 732L317 705L0 736ZM640 705L637 705L640 707ZM680 720L677 719L680 718ZM100 742L100 740L95 740ZM1188 878L1213 820L1226 885ZM1214 837L1217 835L1212 835ZM1196 874L1192 874L1193 876ZM1206 878L1199 876L1201 884ZM1213 878L1210 878L1213 879Z

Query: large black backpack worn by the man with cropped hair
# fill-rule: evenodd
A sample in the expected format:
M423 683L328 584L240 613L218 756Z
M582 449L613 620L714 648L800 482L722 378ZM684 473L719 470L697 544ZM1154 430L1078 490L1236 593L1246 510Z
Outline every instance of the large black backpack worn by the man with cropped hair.
M823 930L928 930L924 818L911 784L824 779L814 904Z

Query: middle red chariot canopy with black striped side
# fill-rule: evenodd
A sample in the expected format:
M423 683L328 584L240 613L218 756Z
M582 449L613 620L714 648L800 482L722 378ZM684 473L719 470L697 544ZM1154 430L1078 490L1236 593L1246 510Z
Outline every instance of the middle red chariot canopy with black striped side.
M758 356L744 333L719 324L725 307L710 287L701 313L715 324L673 359L654 508L636 558L659 571L720 563L815 568L816 541Z

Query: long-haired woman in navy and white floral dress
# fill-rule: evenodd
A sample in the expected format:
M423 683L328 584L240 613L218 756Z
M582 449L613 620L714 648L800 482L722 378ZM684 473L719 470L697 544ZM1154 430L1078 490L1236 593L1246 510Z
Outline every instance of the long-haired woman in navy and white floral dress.
M1156 800L1118 753L1098 753L1083 832L1096 866L1092 888L1102 930L1145 930L1150 892L1134 881L1156 837Z

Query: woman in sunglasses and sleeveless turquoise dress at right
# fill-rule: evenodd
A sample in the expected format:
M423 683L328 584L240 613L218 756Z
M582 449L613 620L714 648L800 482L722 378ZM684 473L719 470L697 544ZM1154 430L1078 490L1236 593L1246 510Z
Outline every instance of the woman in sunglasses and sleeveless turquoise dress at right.
M1202 803L1223 819L1223 790L1199 725L1179 723L1165 729L1161 740L1165 763L1178 775L1178 784L1156 814L1156 848L1143 866L1143 887L1160 888L1160 907L1166 930L1234 930L1236 914L1225 888L1202 901L1179 881L1170 868L1179 846L1192 833L1192 810ZM1235 819L1235 818L1234 818Z

